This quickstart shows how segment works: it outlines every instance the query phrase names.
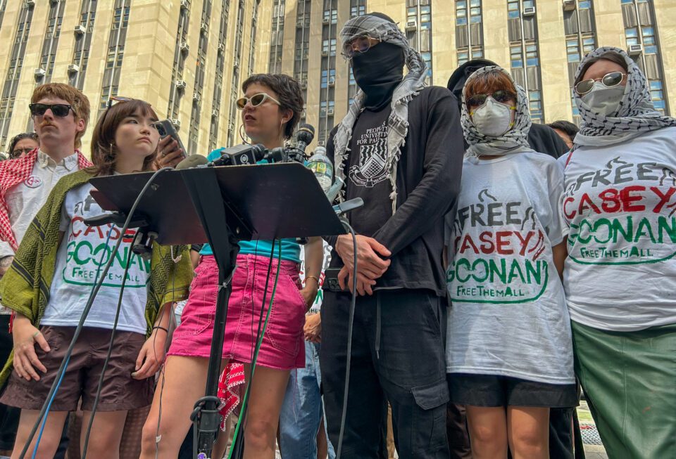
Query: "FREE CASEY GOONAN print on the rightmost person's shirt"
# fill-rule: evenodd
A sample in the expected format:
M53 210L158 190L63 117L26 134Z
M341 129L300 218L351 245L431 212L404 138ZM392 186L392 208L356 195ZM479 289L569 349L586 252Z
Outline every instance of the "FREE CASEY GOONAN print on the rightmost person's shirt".
M568 180L567 180L568 181ZM615 157L574 177L563 196L568 252L577 264L644 264L676 254L676 174Z

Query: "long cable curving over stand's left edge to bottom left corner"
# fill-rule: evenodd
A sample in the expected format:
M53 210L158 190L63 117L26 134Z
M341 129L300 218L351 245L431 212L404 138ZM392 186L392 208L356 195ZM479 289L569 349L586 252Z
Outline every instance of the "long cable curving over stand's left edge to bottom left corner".
M129 224L132 221L132 216L134 216L134 212L136 212L136 208L139 206L139 202L141 202L141 198L145 195L145 193L148 191L150 188L151 184L153 181L156 179L156 177L161 174L164 171L170 171L173 170L171 167L163 167L162 169L159 169L156 171L149 179L149 181L145 184L145 186L142 188L141 192L137 196L136 200L134 201L134 205L132 205L132 208L130 209L129 214L127 215L127 220L125 221L124 226L122 227L120 234L124 234L125 231L127 231L127 228L129 228ZM77 323L77 328L75 328L75 332L73 333L73 339L70 340L70 345L68 346L68 350L65 351L65 356L63 356L63 361L61 361L61 366L58 368L58 372L56 373L56 377L54 379L54 384L51 385L51 389L49 389L49 394L47 394L46 399L44 403L42 404L42 409L40 410L39 415L37 416L37 420L35 420L35 425L33 425L32 429L30 430L30 434L28 434L28 438L26 440L26 444L23 446L23 449L21 450L21 453L19 455L19 459L24 459L25 455L28 451L28 448L33 441L33 438L35 437L35 433L37 432L37 429L39 429L40 422L42 422L42 418L44 418L47 408L49 406L49 400L54 396L54 393L56 392L56 387L58 385L58 380L61 379L61 375L63 375L65 371L65 363L68 362L70 356L73 354L73 348L75 347L75 342L77 342L77 338L80 337L80 332L82 332L82 328L84 327L84 321L87 319L87 315L89 314L89 310L92 309L92 304L94 304L94 299L96 298L96 295L98 295L99 290L101 290L101 285L103 285L104 280L106 279L106 275L108 274L108 270L111 268L113 261L115 261L115 254L118 252L120 248L120 244L122 244L123 238L118 238L118 242L115 243L115 247L113 247L113 251L111 252L111 258L108 260L108 263L106 263L106 267L104 268L103 273L101 273L101 278L99 278L98 282L96 285L94 285L94 289L92 290L92 294L89 295L89 299L87 300L87 304L84 305L84 311L82 311L82 316L80 317L80 322ZM35 448L37 448L38 445L35 445Z

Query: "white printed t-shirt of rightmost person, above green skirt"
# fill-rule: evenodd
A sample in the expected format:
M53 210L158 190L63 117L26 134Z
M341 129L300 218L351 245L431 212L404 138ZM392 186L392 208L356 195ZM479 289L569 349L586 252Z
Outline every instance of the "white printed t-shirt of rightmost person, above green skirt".
M570 318L618 332L676 323L676 127L578 148L564 189Z

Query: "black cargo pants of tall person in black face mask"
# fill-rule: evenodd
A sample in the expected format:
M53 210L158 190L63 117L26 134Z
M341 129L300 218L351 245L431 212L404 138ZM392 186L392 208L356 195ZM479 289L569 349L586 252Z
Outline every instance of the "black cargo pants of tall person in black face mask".
M320 366L329 438L338 446L351 295L325 292ZM428 290L358 297L342 459L379 458L383 409L392 405L399 457L449 458L446 302Z

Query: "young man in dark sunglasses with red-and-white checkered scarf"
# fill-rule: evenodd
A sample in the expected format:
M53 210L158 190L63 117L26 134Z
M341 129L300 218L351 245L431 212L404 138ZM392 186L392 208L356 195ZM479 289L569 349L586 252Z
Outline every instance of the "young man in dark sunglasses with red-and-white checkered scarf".
M38 86L29 105L39 148L11 161L0 162L0 277L8 270L28 226L62 176L92 165L79 150L89 120L89 100L73 86L51 83ZM12 349L8 334L9 311L0 306L0 360ZM46 346L42 335L32 337ZM18 410L0 406L0 450L11 449ZM11 411L11 412L10 412Z

